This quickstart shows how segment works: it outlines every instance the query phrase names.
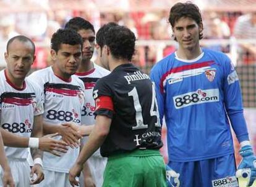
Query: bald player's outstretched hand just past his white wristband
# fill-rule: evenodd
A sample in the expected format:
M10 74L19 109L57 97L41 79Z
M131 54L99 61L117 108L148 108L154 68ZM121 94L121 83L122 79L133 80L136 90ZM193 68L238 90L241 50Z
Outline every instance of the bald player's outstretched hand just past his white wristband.
M55 156L61 156L61 153L67 153L67 143L62 140L54 140L53 137L58 136L59 133L52 133L39 138L39 149L47 151Z

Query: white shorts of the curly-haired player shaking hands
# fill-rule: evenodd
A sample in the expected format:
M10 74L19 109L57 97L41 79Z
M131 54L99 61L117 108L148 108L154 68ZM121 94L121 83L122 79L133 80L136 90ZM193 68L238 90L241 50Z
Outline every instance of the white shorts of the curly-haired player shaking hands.
M45 180L41 181L38 187L71 187L69 183L69 173L54 172L51 170L43 170Z

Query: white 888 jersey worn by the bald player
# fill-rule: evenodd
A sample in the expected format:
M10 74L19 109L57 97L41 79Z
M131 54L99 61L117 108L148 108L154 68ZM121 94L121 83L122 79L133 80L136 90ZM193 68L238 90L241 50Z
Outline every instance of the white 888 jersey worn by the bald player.
M23 89L15 87L7 78L6 70L0 71L0 115L2 129L21 137L30 137L34 116L43 114L42 90L28 79ZM28 149L4 147L6 156L27 159Z

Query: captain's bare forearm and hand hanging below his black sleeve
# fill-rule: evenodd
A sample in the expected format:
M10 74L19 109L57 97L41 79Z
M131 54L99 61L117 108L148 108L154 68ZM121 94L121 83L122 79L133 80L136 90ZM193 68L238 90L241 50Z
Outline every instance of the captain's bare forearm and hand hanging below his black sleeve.
M79 175L83 169L83 164L87 159L92 156L92 154L100 148L105 141L105 138L109 133L111 121L112 119L107 116L96 116L95 127L93 128L92 133L90 133L88 141L83 146L74 166L69 171L69 181L72 185L78 185L79 182L75 180L75 177Z

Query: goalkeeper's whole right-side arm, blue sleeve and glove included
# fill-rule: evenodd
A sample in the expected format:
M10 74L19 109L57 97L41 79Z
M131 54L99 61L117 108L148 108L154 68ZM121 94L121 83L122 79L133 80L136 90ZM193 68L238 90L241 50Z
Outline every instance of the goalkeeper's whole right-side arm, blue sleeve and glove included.
M234 66L227 62L224 72L224 105L228 113L231 125L236 133L236 137L241 145L239 153L242 161L238 170L249 169L249 181L247 186L252 186L256 180L256 157L250 145L247 125L244 119L242 106L242 94L239 80L234 70Z

